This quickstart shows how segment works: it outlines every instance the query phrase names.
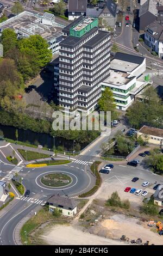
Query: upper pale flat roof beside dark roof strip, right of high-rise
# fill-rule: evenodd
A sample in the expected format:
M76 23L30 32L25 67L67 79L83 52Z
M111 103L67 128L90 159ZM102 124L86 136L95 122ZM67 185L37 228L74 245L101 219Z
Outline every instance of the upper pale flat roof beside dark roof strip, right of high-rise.
M110 68L114 70L120 70L123 72L131 72L134 69L137 68L139 64L137 63L132 63L132 62L126 62L121 59L113 59L110 63Z

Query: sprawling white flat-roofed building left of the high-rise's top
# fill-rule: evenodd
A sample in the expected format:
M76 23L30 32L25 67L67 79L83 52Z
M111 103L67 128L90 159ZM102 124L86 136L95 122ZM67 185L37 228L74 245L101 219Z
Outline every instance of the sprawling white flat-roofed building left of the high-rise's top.
M64 27L64 26L63 26ZM23 11L7 21L0 23L0 31L5 28L14 29L18 38L28 38L30 35L41 35L49 44L52 53L59 52L59 42L62 40L62 27L55 23L53 14L43 15Z

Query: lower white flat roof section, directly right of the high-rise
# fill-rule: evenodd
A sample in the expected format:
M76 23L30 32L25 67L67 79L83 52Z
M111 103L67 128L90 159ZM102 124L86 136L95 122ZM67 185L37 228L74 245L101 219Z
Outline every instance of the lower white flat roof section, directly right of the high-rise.
M128 76L129 74L127 73L110 70L110 76L107 77L103 82L110 83L114 86L123 86L124 84L128 83L130 80L134 79L134 77L129 78Z

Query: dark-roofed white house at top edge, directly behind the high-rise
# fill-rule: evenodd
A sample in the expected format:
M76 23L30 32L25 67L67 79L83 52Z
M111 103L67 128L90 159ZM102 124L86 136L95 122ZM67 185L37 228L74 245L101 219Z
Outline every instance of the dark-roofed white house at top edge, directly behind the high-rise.
M68 0L68 20L86 16L87 0Z

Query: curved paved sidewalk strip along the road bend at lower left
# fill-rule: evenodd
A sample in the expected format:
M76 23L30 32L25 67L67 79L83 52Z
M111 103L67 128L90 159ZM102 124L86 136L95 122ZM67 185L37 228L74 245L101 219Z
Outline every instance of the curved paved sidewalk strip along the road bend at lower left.
M41 206L39 205L37 208L35 208L35 211L38 211L41 209ZM20 230L23 227L23 225L32 217L33 215L28 214L25 218L23 218L20 222L18 222L18 224L16 225L15 229L14 229L14 241L16 245L23 245L23 243L21 242L21 237L20 237Z

